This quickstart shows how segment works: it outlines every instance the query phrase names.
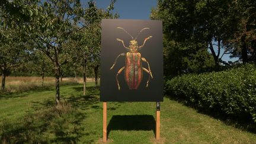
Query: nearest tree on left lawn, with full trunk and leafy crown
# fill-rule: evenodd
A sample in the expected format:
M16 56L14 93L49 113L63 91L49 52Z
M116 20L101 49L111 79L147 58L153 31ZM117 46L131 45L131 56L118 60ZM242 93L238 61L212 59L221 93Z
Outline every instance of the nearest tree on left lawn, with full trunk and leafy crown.
M78 24L81 15L84 14L79 1L40 1L38 6L40 17L32 24L29 35L33 40L31 43L34 49L41 50L55 66L55 89L56 104L60 103L60 68L73 55L69 55L72 49L63 47L68 39L81 28L75 27Z

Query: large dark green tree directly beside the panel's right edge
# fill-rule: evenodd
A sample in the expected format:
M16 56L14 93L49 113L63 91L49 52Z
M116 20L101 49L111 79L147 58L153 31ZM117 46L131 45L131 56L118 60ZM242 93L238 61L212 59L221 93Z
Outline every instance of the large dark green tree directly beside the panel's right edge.
M207 51L213 40L220 41L225 5L218 1L158 1L151 18L162 20L165 76L205 72L219 65L219 53ZM221 7L220 7L221 6ZM216 11L220 11L219 13ZM222 28L222 29L221 29ZM220 52L220 45L218 47ZM201 56L200 56L201 55ZM214 58L214 59L213 59Z

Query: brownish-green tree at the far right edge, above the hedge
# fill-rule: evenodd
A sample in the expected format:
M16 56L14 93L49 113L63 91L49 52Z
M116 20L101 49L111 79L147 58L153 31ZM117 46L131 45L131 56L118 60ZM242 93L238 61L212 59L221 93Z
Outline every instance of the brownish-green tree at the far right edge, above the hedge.
M224 41L226 51L243 63L256 62L256 2L232 1L229 11L234 28Z

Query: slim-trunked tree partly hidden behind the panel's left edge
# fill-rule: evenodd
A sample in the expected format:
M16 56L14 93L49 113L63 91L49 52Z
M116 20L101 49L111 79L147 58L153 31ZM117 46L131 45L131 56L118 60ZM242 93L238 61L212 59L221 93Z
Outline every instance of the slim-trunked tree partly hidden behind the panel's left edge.
M83 67L83 80L84 80L84 95L86 94L86 77L88 63L97 63L100 56L100 30L101 19L103 18L117 18L117 14L111 14L114 9L114 2L111 1L108 8L99 9L94 1L88 2L88 8L85 10L85 15L81 21L84 30L79 31L73 39L73 43L78 47L76 53L78 61Z

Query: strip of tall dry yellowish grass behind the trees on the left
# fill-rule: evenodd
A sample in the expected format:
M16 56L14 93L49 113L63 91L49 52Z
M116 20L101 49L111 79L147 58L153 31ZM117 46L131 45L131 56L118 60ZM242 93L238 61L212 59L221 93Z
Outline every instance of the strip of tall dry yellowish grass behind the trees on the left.
M87 78L87 82L94 81L93 78ZM78 78L62 78L62 84L82 84L83 79ZM2 84L2 79L0 78L0 85ZM31 89L37 89L42 87L52 87L55 85L54 77L44 77L44 84L42 85L41 76L7 76L5 80L5 91L7 92L20 92L28 91Z

